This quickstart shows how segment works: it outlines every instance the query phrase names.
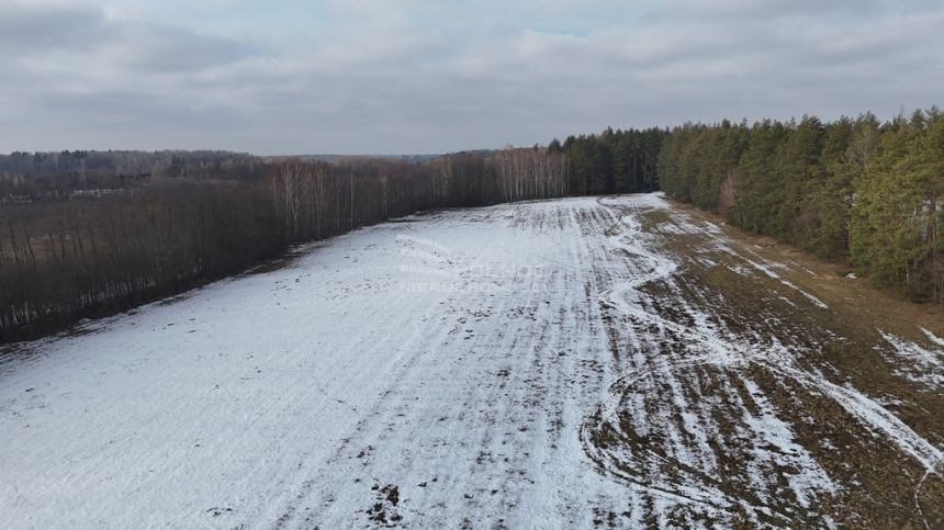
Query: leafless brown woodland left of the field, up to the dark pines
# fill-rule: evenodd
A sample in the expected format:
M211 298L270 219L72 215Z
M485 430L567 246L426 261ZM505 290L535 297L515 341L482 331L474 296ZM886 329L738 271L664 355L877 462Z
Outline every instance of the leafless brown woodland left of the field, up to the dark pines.
M127 309L246 270L293 244L417 211L567 193L564 155L543 147L422 163L239 163L232 173L239 178L191 165L188 176L113 194L0 204L0 342Z

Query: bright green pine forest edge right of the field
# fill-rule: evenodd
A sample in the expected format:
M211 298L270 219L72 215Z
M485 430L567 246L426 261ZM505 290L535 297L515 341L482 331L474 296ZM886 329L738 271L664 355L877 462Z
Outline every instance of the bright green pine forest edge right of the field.
M866 113L686 124L665 138L658 171L675 199L944 304L937 108L887 122Z

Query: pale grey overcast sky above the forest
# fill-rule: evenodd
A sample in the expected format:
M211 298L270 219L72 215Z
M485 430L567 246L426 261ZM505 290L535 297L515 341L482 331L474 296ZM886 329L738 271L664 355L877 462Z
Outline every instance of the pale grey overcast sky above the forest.
M0 153L441 153L944 104L941 0L0 0Z

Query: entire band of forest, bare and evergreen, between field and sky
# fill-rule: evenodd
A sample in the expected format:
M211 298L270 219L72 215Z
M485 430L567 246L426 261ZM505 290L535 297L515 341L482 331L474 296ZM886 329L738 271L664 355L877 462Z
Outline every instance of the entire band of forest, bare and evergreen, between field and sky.
M885 123L863 114L831 123L805 116L608 128L547 147L417 160L112 155L0 157L0 342L123 311L246 270L293 244L417 211L660 187L735 226L849 261L876 283L944 304L937 109ZM139 178L123 177L125 170ZM114 193L79 193L101 187Z

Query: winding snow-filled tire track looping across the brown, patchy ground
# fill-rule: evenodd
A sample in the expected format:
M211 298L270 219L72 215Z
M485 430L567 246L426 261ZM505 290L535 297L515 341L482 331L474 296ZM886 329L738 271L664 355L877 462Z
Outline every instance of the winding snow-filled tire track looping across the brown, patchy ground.
M603 207L617 210L616 206L607 204L603 199L599 199L597 202ZM648 204L648 206L659 207L659 204ZM688 324L678 324L643 308L652 304L650 297L641 291L641 287L649 283L671 283L671 277L676 271L677 266L671 259L647 249L645 237L642 233L639 218L640 213L640 204L638 202L631 207L627 207L620 213L617 223L606 230L606 235L616 249L625 252L630 258L642 260L645 272L629 278L622 284L604 292L599 298L600 303L629 316L633 322L654 325L661 330L660 332L667 331L683 339L688 345L695 343L708 351L686 359L666 361L651 359L650 362L654 363L654 365L643 368L641 371L637 370L627 373L611 383L609 392L600 407L587 418L581 428L581 440L584 450L598 470L638 487L651 489L656 495L676 498L684 503L703 504L729 515L733 514L734 507L740 507L755 516L756 514L764 514L779 519L787 525L800 522L801 519L797 519L796 516L778 510L768 504L757 504L743 497L724 494L721 492L723 484L709 476L708 472L700 472L697 469L693 470L677 460L656 454L652 450L644 450L647 458L685 470L692 476L697 477L701 482L701 485L693 486L690 483L684 485L678 483L659 484L658 481L651 477L627 472L623 469L626 462L620 461L627 454L614 453L607 447L608 441L605 440L607 436L618 437L621 432L621 411L626 408L626 399L632 394L633 388L639 383L655 377L659 373L677 373L683 370L701 367L741 371L751 364L756 364L779 374L782 377L796 381L808 388L819 391L842 406L847 414L856 418L862 425L874 432L881 432L902 452L915 459L926 470L924 477L920 481L915 489L914 497L917 503L918 490L920 490L930 474L939 473L936 469L944 461L944 455L942 455L942 451L939 448L914 432L886 408L854 388L840 386L828 381L822 375L814 375L797 368L790 349L779 343L776 339L774 339L774 343L769 347L757 348L743 338L722 337L721 330L705 322L700 323L696 329ZM821 303L817 305L822 307ZM629 444L629 439L623 437L622 442ZM626 449L629 450L628 448ZM633 461L638 460L632 450L629 451L629 458L634 459ZM825 472L822 469L813 471L818 471L822 475L821 484L810 492L798 490L798 498L803 498L809 494L829 494L834 490L834 485L825 476Z

